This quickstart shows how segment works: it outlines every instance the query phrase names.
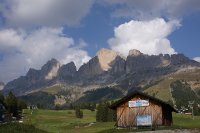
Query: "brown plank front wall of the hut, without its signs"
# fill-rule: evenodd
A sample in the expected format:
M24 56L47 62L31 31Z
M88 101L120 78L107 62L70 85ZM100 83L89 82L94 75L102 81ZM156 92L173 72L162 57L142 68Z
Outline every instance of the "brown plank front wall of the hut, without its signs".
M140 97L135 97L132 100L136 99L147 99ZM151 115L152 124L154 126L163 124L163 113L162 106L159 103L154 101L149 101L150 105L146 107L135 107L129 108L128 101L121 104L117 108L117 125L119 127L133 127L137 126L136 116L137 115Z

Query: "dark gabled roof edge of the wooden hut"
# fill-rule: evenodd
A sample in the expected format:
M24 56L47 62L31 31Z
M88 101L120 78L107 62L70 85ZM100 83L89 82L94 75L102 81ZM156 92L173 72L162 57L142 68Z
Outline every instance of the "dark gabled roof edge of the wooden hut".
M110 106L110 108L111 108L111 109L116 109L119 105L121 105L122 103L124 103L124 102L126 102L126 101L131 100L131 99L132 99L134 96L136 96L136 95L141 95L141 96L143 96L143 97L148 98L149 100L156 101L156 102L160 103L161 105L164 105L164 106L168 107L171 111L176 112L176 113L178 112L178 111L177 111L175 108L173 108L170 104L168 104L168 103L166 103L166 102L164 102L164 101L162 101L162 100L160 100L160 99L157 99L157 98L155 98L155 97L153 97L153 96L147 95L147 94L145 94L145 93L143 93L143 92L141 92L141 91L133 91L133 92L129 93L129 94L126 95L125 97L123 97L123 98L121 98L120 100L114 102L114 103Z

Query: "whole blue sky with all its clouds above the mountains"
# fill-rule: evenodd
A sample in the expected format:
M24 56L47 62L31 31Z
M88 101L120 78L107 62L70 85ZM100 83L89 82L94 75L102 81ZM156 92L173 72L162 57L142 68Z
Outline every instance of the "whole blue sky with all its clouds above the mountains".
M200 61L199 0L0 0L0 80L51 58L77 67L101 48Z

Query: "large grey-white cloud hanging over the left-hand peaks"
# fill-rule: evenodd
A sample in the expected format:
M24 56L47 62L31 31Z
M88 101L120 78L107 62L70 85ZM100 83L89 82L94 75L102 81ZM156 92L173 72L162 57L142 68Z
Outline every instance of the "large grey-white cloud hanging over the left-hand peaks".
M75 43L63 35L62 28L41 28L27 33L23 30L0 31L0 79L9 81L32 67L39 69L47 60L56 58L62 63L74 61L76 66L90 57L82 48L83 40Z

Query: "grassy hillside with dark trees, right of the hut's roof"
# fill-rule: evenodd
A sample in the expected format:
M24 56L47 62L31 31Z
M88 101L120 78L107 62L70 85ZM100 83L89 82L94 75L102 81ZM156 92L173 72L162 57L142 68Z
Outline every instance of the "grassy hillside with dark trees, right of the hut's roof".
M177 71L166 75L156 84L145 88L145 92L170 104L188 106L189 101L200 103L200 69Z

